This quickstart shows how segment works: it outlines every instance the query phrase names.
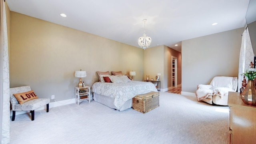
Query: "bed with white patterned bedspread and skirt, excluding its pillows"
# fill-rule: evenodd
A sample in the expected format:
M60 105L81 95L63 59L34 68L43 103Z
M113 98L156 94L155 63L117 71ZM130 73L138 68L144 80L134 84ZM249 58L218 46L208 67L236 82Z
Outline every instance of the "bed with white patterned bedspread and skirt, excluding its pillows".
M120 111L132 107L132 98L137 94L152 91L158 92L151 82L95 82L92 85L94 101Z

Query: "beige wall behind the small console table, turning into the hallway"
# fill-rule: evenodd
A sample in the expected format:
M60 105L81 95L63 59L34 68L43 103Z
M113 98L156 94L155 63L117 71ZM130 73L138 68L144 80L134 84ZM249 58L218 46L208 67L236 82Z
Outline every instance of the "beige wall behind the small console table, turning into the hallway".
M177 84L181 84L181 53L167 46L156 46L144 50L144 79L150 79L161 73L161 90L167 91L172 87L172 56L177 57Z

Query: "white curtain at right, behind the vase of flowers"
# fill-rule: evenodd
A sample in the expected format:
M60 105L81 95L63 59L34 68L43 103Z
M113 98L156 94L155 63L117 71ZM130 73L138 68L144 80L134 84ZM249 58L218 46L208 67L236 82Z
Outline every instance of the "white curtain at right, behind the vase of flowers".
M250 39L248 28L246 28L242 35L242 44L239 56L239 67L238 67L238 92L242 87L242 74L250 68L250 62L254 63L254 53L252 49L252 42ZM248 82L248 79L246 79Z

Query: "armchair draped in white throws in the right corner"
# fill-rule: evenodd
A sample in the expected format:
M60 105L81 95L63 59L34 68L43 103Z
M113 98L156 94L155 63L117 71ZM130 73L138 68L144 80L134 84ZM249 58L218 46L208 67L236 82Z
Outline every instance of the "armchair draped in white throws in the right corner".
M209 85L199 84L196 90L198 101L222 106L228 105L228 92L236 92L238 78L230 76L215 76Z

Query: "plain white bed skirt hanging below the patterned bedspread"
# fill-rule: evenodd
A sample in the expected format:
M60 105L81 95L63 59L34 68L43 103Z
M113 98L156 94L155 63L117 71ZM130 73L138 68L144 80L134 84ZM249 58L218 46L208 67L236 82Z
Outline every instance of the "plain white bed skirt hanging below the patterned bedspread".
M103 96L103 95L100 95L100 94L97 94L97 93L93 93L93 100L96 101L96 102L99 102L101 104L104 104L110 108L114 108L114 109L117 109L119 111L123 111L123 110L126 110L128 108L131 108L132 107L132 99L126 101L124 103L124 105L122 105L122 107L120 109L116 108L116 106L114 105L114 100L110 97L107 97L107 96Z

